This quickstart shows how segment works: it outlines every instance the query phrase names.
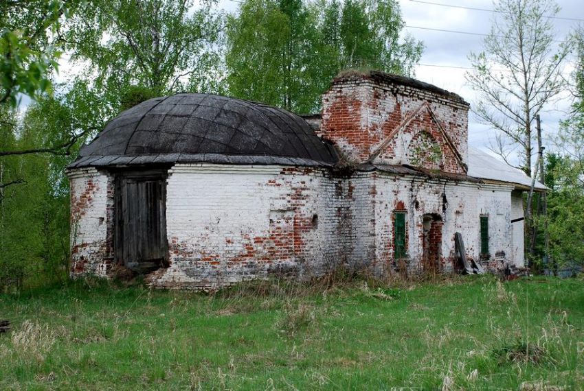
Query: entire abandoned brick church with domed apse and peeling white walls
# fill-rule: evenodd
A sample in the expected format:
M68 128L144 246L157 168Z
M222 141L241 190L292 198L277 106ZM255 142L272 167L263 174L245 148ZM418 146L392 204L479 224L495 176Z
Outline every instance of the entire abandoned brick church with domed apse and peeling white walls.
M122 112L69 166L71 274L128 268L210 289L340 266L524 265L531 180L468 146L469 104L381 72L339 75L322 115L181 93ZM544 188L537 184L536 190Z

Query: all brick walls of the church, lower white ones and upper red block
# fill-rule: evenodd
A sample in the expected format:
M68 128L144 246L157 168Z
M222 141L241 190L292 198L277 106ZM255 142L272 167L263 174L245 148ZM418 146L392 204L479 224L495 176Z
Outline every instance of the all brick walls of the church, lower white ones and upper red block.
M420 272L437 263L437 271L450 272L457 267L456 232L462 234L467 257L488 270L501 271L507 263L523 267L524 223L510 222L523 217L521 193L513 185L488 185L465 176L468 106L449 96L370 80L335 84L324 95L319 131L344 154L334 169L174 165L166 182L168 265L146 281L166 289L216 289L271 275L302 280L339 266L385 274ZM392 133L420 108L411 128ZM441 138L442 131L448 137ZM440 170L456 176L430 179L344 165L368 161L380 145L385 150L375 163L412 163L410 143L425 132L452 143L456 153L447 151ZM395 137L388 139L388 134ZM74 169L69 178L71 275L109 276L115 261L113 175ZM407 213L406 258L399 261L394 259L396 211ZM485 259L481 215L488 217L490 256ZM429 249L432 257L438 254L431 262Z

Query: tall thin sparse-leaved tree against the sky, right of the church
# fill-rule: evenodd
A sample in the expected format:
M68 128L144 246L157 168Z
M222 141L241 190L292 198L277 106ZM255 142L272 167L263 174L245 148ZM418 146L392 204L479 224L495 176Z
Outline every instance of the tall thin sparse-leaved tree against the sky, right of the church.
M563 64L570 45L557 43L552 0L499 0L484 50L471 53L466 74L478 93L473 112L495 130L493 152L530 175L535 116L563 91Z

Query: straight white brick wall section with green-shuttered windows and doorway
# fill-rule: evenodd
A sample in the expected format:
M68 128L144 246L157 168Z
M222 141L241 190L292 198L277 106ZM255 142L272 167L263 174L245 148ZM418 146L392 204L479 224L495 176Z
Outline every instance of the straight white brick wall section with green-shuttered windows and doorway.
M505 254L510 250L511 187L381 173L377 174L374 186L375 258L385 266L384 272L400 269L394 257L395 211L407 212L405 267L409 273L423 271L424 215L440 216L440 271L451 272L456 268L456 232L462 234L467 257L480 261L480 215L485 214L491 216L489 244L493 254L483 261L484 265L497 271L510 261Z

